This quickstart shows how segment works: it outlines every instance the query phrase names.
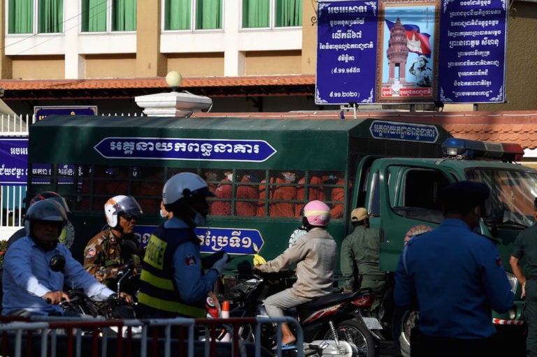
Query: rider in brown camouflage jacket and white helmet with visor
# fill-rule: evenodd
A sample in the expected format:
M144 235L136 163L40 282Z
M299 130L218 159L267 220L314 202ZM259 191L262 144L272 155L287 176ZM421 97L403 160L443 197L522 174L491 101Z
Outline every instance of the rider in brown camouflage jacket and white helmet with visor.
M114 196L104 204L108 228L97 233L84 249L84 268L99 282L115 289L117 273L127 263L134 268L141 264L143 250L134 235L136 217L142 214L140 205L132 196ZM136 286L124 286L133 294Z

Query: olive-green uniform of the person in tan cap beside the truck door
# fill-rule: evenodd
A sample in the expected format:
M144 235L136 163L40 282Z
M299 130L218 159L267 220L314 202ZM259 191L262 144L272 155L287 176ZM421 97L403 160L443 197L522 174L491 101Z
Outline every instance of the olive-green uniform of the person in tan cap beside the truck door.
M356 226L341 243L341 274L345 279L345 290L355 291L358 278L361 288L371 288L377 298L373 309L380 305L384 293L386 275L379 269L380 237L377 229Z

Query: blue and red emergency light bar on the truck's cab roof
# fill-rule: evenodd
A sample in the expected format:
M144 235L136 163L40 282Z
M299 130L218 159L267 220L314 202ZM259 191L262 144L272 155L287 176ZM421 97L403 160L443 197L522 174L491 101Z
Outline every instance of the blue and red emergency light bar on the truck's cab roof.
M489 157L506 162L520 161L524 155L524 150L519 144L459 138L446 139L442 144L442 150L447 156L459 156L465 159Z

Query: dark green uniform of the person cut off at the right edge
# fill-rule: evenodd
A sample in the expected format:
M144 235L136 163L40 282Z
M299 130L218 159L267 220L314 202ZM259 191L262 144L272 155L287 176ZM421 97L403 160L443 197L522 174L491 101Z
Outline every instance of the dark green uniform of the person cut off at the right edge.
M511 253L517 259L524 258L526 266L526 307L524 315L528 323L526 338L527 356L537 356L537 225L522 231Z

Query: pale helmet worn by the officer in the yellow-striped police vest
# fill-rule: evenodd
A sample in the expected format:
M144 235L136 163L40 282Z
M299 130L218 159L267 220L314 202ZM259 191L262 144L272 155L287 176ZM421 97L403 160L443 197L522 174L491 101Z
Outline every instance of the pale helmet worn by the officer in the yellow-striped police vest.
M171 205L182 198L189 199L194 196L215 196L207 187L205 180L195 173L178 173L170 177L162 190L164 205Z

